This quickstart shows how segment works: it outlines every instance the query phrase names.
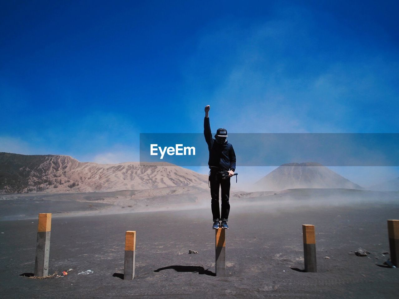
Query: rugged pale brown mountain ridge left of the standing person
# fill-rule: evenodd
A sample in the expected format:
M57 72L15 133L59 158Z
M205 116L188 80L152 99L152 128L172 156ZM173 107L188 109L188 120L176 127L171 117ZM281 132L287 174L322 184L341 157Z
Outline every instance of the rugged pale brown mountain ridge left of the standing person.
M166 162L98 164L68 155L0 153L0 193L96 192L202 186L202 175Z

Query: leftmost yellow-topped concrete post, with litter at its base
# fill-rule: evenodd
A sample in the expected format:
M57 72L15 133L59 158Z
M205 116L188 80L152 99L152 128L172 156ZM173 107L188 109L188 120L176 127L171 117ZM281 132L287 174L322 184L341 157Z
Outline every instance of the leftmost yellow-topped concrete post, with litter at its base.
M49 273L51 213L40 213L34 275L47 276Z

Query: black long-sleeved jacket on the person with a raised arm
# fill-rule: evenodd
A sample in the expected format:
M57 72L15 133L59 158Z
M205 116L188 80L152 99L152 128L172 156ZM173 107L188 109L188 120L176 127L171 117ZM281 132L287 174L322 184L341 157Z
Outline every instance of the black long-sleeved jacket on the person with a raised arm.
M203 135L209 149L209 168L216 166L221 170L235 171L235 152L233 146L227 140L224 144L216 142L212 137L209 117L205 117L203 120Z

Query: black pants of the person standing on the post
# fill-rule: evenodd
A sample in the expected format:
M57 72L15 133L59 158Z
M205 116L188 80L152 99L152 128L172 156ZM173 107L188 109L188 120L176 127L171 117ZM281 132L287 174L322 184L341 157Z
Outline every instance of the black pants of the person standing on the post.
M230 178L222 179L222 173L224 171L219 171L217 169L211 169L211 174L209 175L209 183L211 186L211 209L213 221L227 221L230 212ZM221 187L221 214L219 210L219 186Z

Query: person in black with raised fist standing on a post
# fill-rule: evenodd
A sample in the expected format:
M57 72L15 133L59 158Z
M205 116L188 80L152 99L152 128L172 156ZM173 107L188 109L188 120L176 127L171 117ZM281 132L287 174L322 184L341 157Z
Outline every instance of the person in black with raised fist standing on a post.
M227 220L229 218L230 204L230 177L235 171L235 153L233 146L226 140L227 130L217 129L215 139L212 137L211 126L209 125L210 106L205 106L205 118L203 120L203 134L209 149L208 165L209 182L211 186L211 209L213 215L213 229L229 228ZM223 179L223 175L225 175ZM219 185L221 187L221 214L219 210ZM221 224L219 223L221 221Z

